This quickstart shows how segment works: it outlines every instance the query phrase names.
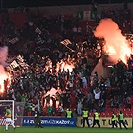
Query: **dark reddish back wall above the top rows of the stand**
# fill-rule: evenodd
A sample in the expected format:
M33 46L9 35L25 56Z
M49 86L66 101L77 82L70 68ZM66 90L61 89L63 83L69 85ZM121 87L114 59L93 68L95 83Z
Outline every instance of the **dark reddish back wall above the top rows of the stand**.
M131 11L131 14L133 14L133 3L128 3L128 8ZM39 10L44 15L60 15L61 13L64 14L73 14L77 15L80 11L90 11L92 8L92 5L71 5L71 6L47 6L47 7L29 7L32 11L37 12ZM101 14L102 10L111 10L111 9L121 9L123 8L123 3L118 4L99 4L97 7L98 14ZM8 9L10 12L14 12L14 8ZM133 15L131 15L133 20Z

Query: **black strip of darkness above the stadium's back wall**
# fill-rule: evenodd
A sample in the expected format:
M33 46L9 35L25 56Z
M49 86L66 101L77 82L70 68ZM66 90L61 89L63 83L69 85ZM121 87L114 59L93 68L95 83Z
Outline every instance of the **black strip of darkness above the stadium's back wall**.
M61 6L61 5L84 5L91 4L94 0L0 0L3 8L15 8L18 6L25 7L42 7L42 6ZM133 0L95 0L99 4L105 3L124 3Z

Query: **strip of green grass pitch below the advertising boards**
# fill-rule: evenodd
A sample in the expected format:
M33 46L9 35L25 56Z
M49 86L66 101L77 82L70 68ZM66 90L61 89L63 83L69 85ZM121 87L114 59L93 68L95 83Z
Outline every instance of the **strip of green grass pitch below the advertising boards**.
M0 133L133 133L133 129L111 129L111 128L78 128L78 127L18 127L14 131L12 127L9 127L8 131L5 131L5 127L0 127Z

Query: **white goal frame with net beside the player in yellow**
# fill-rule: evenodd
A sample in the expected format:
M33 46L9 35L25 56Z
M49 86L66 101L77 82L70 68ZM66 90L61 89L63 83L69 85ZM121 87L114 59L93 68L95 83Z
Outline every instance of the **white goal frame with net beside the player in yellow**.
M6 107L10 107L12 112L12 120L16 126L22 125L22 118L24 113L24 106L21 102L14 100L0 100L0 126L5 126L5 112Z

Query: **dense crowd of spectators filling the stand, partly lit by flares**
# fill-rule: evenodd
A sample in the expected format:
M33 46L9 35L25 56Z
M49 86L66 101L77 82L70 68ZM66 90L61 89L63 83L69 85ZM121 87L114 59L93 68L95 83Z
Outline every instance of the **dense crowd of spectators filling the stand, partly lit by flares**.
M123 10L104 11L101 18L112 18L123 33L131 34L130 12L127 8ZM50 116L61 115L67 108L77 115L82 114L83 108L90 112L105 112L108 106L131 109L132 58L128 66L121 61L115 64L106 78L99 77L97 72L91 74L101 58L97 53L99 39L93 34L98 21L93 22L93 27L88 21L83 31L81 20L72 15L45 16L30 9L14 11L19 13L25 13L28 19L23 26L16 27L10 12L2 12L1 46L8 46L9 58L18 61L20 55L25 65L6 68L12 77L11 85L1 99L22 102L24 115L32 115L38 104L42 115ZM121 13L125 13L125 18ZM65 39L71 43L62 44ZM65 70L63 65L71 66L72 71Z

